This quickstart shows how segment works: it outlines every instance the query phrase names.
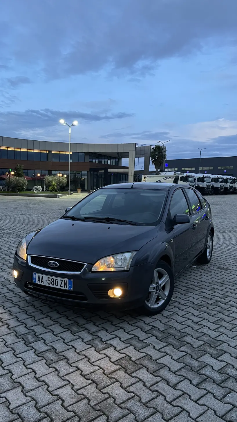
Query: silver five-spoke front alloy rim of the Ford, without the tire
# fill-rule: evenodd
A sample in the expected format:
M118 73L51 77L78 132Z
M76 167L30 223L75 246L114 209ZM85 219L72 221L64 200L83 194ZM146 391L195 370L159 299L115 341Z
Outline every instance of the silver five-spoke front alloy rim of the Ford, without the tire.
M149 308L158 308L161 306L170 291L170 277L163 268L156 268L152 282L149 287L149 293L146 299L146 305Z

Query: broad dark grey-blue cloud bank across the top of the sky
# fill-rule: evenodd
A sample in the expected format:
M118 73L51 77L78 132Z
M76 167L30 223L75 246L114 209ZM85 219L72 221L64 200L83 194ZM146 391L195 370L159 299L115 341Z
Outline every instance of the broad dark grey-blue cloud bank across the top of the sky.
M18 0L1 8L4 62L61 78L105 69L143 77L157 63L237 38L236 0ZM8 21L8 23L6 23Z

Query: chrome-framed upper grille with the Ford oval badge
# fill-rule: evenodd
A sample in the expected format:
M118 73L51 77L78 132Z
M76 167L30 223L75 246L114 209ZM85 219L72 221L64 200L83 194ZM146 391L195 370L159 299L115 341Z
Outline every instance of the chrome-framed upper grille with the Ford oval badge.
M58 262L59 266L52 268L48 265L49 261L56 261ZM84 262L67 261L60 260L58 258L31 255L29 256L29 265L56 273L81 273L86 264Z

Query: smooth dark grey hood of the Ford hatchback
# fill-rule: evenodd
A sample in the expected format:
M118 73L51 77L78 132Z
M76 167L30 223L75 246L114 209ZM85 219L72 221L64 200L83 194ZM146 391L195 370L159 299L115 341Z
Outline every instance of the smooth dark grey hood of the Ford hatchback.
M138 251L157 234L154 226L58 219L35 235L27 254L94 264L112 254Z

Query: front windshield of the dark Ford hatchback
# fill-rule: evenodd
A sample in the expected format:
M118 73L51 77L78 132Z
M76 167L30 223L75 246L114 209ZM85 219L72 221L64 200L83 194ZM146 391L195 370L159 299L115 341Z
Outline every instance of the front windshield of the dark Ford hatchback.
M127 220L111 221L113 224L129 224L131 222L141 225L154 225L162 216L163 207L168 191L160 189L98 189L85 197L64 216L75 219L91 218L97 222L103 218ZM93 220L93 218L95 220ZM109 221L109 220L108 220Z

